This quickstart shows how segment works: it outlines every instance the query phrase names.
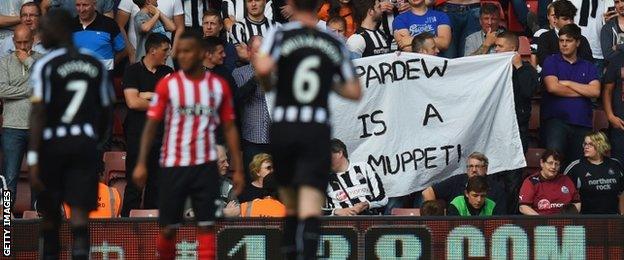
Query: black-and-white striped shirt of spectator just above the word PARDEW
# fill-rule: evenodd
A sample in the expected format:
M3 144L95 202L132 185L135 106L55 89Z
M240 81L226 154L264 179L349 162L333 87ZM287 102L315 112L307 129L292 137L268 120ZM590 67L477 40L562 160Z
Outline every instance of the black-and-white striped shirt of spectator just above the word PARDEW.
M381 30L358 28L347 40L347 48L361 57L390 52L390 42Z

